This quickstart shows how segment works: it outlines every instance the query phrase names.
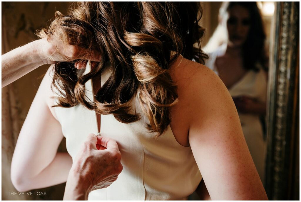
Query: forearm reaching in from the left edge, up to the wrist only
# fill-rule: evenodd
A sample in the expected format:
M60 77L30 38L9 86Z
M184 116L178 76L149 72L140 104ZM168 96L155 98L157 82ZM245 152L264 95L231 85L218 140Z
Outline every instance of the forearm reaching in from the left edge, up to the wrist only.
M36 40L2 55L2 88L47 63L39 56L41 48Z

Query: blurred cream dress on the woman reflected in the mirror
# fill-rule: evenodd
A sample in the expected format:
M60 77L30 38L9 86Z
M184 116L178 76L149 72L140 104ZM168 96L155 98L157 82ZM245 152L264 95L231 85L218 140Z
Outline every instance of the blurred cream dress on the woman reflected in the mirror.
M216 58L225 54L226 45L219 47L218 50L209 53L209 59L205 65L219 74L215 65ZM232 97L248 96L257 101L265 102L267 95L267 81L265 72L259 67L259 72L248 71L237 83L229 90ZM239 113L241 127L244 137L249 147L256 169L262 183L265 182L265 157L266 143L263 137L262 124L259 115Z

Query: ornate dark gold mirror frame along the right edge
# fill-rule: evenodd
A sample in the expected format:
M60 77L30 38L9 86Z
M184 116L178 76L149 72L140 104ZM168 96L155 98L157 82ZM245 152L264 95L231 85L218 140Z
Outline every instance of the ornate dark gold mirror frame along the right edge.
M269 200L299 200L299 2L275 3L272 33L265 188Z

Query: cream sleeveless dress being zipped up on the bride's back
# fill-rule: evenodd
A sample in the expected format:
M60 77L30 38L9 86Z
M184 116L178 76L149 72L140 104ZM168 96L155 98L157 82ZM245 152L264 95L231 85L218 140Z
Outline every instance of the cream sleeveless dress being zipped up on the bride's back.
M85 73L88 71L89 62ZM109 76L107 70L101 77L101 85ZM85 84L85 94L93 101L92 89L90 80ZM133 110L141 113L137 96L132 103ZM98 133L96 113L82 105L55 107L55 113L66 137L67 151L74 160L86 136ZM111 114L101 115L101 135L117 141L123 171L108 188L92 191L88 200L183 200L197 188L202 176L191 148L176 141L170 126L154 139L155 134L145 128L149 121L143 113L141 117L137 122L125 124Z

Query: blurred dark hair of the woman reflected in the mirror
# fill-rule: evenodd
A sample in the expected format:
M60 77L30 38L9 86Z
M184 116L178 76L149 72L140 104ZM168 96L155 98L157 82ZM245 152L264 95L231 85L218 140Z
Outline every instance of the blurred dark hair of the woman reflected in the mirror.
M244 7L250 14L250 30L245 43L243 44L243 60L244 67L247 70L258 71L256 63L262 65L263 68L266 65L266 53L265 53L265 32L262 23L262 17L256 2L229 2L227 11L234 6Z

